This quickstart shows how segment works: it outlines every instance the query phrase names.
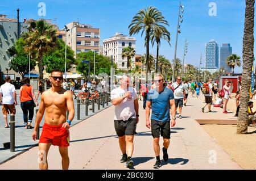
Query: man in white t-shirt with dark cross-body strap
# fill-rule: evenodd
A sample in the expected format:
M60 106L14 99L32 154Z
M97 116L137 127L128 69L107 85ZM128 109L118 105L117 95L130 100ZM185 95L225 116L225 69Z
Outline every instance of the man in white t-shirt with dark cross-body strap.
M184 89L183 83L181 82L181 77L177 76L177 81L172 83L171 86L174 89L175 107L176 107L176 110L177 110L177 107L179 107L179 119L181 119L183 99L186 100L185 89Z

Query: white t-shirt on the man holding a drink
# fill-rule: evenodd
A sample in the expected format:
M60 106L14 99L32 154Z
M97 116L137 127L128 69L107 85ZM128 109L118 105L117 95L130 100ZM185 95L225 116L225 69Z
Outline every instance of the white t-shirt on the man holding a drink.
M136 111L134 108L134 100L138 99L137 91L133 87L129 87L128 91L131 91L131 98L123 99L122 103L115 106L114 120L127 121L129 118L136 118ZM111 91L111 100L121 98L127 90L117 87Z

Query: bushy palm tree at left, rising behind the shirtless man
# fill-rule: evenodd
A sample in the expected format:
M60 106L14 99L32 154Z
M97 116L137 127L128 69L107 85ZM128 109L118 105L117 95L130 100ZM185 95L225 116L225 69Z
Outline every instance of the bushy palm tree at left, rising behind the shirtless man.
M43 81L43 56L53 50L57 42L57 29L52 24L46 23L40 19L37 22L31 22L28 32L24 35L26 46L24 50L36 52L35 58L39 66L39 79ZM44 81L43 81L44 89Z

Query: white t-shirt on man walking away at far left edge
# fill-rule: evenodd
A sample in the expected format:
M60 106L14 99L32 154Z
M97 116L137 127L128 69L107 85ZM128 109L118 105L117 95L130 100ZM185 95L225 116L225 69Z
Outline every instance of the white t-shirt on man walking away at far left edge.
M0 87L0 92L3 96L3 104L13 104L14 103L14 97L13 92L15 92L15 87L9 82L4 83Z

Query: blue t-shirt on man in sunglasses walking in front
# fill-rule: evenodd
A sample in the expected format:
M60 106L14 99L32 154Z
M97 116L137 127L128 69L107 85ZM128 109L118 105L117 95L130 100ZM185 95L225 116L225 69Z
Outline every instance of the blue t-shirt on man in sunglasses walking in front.
M174 92L164 87L162 92L152 89L148 91L147 101L151 102L151 119L156 121L170 121L170 100L174 99Z

